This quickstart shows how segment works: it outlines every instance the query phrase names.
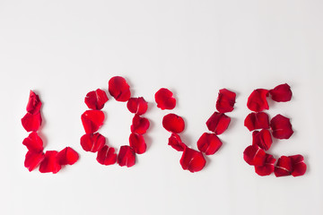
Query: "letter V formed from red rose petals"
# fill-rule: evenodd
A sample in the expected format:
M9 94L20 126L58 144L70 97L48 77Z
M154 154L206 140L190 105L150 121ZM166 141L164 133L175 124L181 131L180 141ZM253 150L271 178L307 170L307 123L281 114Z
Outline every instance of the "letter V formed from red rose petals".
M201 171L205 168L205 155L213 155L221 148L223 142L218 137L229 126L231 118L224 113L231 112L234 107L236 94L230 90L220 90L216 100L216 109L212 116L206 121L206 126L211 133L203 133L197 141L197 149L193 150L181 141L179 133L185 129L185 122L181 116L168 114L162 118L162 126L170 132L169 145L178 151L182 151L179 160L181 167L192 173ZM155 93L157 107L163 109L173 109L176 107L176 99L173 93L165 88Z

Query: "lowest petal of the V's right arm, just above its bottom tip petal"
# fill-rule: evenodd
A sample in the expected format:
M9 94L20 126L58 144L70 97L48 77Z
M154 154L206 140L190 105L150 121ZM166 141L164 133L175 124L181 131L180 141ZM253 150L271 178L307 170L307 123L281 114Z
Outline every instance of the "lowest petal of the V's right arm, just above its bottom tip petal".
M212 155L220 149L222 144L215 133L203 133L197 141L197 148L205 152L205 155Z

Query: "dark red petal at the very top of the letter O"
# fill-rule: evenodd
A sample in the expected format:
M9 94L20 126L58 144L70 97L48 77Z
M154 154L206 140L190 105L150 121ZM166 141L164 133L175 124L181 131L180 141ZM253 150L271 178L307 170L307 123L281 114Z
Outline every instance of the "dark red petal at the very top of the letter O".
M109 80L109 94L118 101L127 101L130 99L131 92L126 79L120 76L112 77Z

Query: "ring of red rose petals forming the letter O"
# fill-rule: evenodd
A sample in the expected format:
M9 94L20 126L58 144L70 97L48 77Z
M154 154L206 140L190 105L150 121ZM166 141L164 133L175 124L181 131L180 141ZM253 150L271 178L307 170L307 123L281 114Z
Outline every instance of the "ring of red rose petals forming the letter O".
M147 111L148 102L142 97L131 98L130 86L125 78L112 77L109 80L109 94L120 102L127 102L127 109L135 116L130 126L129 145L120 147L118 154L116 150L106 144L106 137L98 131L104 124L105 115L101 110L109 100L104 90L93 90L86 94L84 102L89 110L81 116L85 134L81 137L83 150L97 152L97 161L101 165L118 165L130 168L135 165L135 154L143 154L146 151L144 133L149 128L149 120L142 115Z

